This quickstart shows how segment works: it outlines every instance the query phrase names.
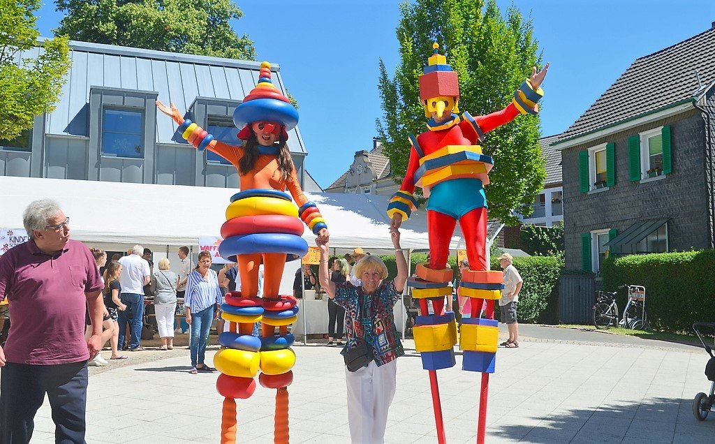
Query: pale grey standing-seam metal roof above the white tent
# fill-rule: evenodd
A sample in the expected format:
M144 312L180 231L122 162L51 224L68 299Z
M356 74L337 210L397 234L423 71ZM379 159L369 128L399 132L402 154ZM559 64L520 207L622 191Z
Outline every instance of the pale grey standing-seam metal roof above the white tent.
M177 54L149 49L70 41L71 68L54 112L47 117L47 134L88 137L87 104L92 87L157 92L165 104L174 102L186 112L197 97L242 100L255 87L260 62L219 57ZM35 58L39 47L23 51L20 59ZM280 66L272 64L275 87L285 94ZM177 125L160 114L157 117L157 143L174 144ZM300 131L292 129L288 145L291 152L305 153Z

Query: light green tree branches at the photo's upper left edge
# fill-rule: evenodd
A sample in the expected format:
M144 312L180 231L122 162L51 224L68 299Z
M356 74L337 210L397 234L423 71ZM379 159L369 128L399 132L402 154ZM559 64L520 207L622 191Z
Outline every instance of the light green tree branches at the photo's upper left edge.
M34 117L54 110L69 69L66 37L44 41L36 59L20 58L37 46L34 13L40 0L4 1L0 8L0 135L11 140L30 129ZM19 60L21 61L19 62Z

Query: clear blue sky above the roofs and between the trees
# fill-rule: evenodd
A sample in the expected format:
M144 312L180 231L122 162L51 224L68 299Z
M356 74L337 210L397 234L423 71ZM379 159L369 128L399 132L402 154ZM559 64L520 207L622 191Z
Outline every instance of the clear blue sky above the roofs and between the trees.
M239 0L245 16L234 23L255 41L259 60L280 64L300 104L298 124L308 150L307 169L322 187L371 149L382 116L380 57L398 64L397 1ZM511 0L498 0L503 11ZM515 0L531 15L534 34L551 63L543 87L544 136L566 130L641 56L688 39L715 21L712 0ZM46 0L39 30L51 36L61 14ZM426 54L425 54L426 56ZM526 77L525 73L525 77ZM664 72L664 76L668 73ZM658 79L654 79L657 87ZM418 98L415 97L415 100ZM497 159L498 161L498 159Z

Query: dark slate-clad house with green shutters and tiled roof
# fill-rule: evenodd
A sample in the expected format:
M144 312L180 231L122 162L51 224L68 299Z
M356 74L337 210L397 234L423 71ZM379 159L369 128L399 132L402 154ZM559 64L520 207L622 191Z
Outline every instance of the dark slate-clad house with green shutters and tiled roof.
M714 246L715 24L633 61L552 145L566 268Z

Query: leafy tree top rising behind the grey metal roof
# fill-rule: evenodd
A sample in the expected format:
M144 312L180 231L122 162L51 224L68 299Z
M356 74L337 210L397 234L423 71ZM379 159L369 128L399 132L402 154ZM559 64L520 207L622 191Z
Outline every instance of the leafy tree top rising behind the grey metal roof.
M182 54L254 60L247 35L231 28L231 0L56 0L66 13L56 34L73 40Z

